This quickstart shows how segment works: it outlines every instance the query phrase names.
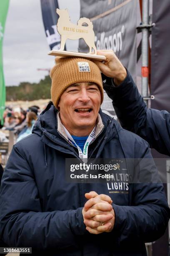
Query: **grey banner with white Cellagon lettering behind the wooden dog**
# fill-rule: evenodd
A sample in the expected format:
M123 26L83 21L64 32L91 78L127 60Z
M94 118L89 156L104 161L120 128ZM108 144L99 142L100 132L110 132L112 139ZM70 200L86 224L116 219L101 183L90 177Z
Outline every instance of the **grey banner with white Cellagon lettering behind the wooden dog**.
M80 0L80 17L90 18L97 49L112 49L136 78L136 0ZM89 49L83 39L79 51Z

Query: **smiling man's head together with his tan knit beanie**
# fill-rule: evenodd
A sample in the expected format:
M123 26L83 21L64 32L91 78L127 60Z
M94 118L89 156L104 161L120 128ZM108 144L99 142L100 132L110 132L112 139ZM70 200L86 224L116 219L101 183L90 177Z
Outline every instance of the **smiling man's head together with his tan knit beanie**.
M103 100L100 69L92 61L56 58L50 75L52 102L60 110L62 124L71 135L88 136Z

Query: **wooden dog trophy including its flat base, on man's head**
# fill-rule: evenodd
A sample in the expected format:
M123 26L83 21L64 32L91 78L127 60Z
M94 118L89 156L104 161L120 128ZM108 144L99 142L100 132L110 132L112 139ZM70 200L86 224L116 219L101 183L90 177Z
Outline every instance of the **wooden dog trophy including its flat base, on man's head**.
M62 57L82 57L86 59L95 59L99 61L105 60L105 56L97 55L97 49L95 46L95 33L93 31L92 22L88 18L80 18L77 25L70 22L68 10L60 10L57 8L57 14L60 16L57 22L57 31L61 35L60 50L52 50L48 52L48 55L62 56ZM82 26L83 23L87 23L88 26ZM83 38L85 43L89 47L89 53L80 53L73 51L64 51L65 42L67 39L76 40ZM94 54L92 54L92 49Z

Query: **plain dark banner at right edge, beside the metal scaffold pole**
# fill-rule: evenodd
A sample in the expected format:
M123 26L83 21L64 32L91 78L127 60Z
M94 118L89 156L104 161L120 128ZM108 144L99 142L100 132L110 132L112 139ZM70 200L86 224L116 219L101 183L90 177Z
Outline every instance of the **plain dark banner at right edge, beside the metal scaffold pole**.
M170 1L153 1L151 107L170 112Z

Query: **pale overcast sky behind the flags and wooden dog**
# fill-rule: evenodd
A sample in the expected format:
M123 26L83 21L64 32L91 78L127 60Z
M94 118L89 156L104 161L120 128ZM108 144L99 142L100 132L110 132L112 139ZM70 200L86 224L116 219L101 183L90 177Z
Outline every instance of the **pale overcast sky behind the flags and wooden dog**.
M73 23L80 17L80 0L58 0L59 8L67 8ZM77 51L78 40L67 41L69 51ZM40 0L10 0L3 38L3 69L5 84L39 82L54 65L54 56L47 55L47 44L42 22Z

